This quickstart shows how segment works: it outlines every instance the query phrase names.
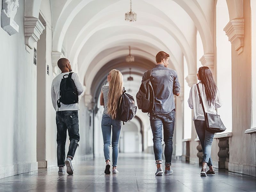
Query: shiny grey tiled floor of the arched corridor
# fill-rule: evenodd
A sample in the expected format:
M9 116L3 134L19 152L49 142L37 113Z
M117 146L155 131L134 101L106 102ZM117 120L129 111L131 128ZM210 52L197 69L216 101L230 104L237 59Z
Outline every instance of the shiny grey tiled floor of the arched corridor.
M256 178L216 169L216 176L200 177L200 167L172 162L172 175L155 176L154 157L149 154L120 154L117 174L104 174L104 159L74 162L74 175L58 175L57 167L39 169L0 180L0 191L9 192L235 192L256 191Z

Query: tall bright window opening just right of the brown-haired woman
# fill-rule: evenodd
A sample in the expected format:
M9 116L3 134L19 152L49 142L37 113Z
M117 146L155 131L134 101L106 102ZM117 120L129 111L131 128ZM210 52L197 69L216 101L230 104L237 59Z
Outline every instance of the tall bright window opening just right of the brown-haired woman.
M217 86L223 105L218 114L227 128L225 132L232 132L231 44L223 31L228 21L227 3L219 0L216 5Z

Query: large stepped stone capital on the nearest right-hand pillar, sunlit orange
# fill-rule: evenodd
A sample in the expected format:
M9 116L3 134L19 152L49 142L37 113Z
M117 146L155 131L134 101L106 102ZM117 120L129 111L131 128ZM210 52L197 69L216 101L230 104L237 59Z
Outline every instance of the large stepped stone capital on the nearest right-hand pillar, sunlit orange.
M237 54L244 51L244 18L232 19L223 29L228 36L228 41L235 45Z

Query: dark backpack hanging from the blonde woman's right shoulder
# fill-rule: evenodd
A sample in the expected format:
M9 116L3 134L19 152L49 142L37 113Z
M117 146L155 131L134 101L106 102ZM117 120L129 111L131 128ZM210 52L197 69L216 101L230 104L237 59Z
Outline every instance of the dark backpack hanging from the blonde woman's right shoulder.
M131 120L136 115L136 111L137 106L132 95L129 95L124 90L118 99L116 119L123 121L124 124L124 122Z

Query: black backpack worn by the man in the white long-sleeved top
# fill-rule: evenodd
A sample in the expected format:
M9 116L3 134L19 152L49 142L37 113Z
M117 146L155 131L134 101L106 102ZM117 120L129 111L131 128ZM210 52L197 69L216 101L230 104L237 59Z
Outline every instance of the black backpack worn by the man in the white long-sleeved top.
M69 105L78 103L78 92L74 80L71 78L73 72L63 75L60 82L60 99L57 101L58 108L60 108L60 102ZM65 76L68 76L65 78Z

